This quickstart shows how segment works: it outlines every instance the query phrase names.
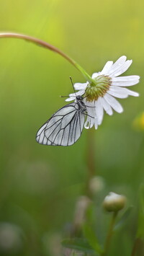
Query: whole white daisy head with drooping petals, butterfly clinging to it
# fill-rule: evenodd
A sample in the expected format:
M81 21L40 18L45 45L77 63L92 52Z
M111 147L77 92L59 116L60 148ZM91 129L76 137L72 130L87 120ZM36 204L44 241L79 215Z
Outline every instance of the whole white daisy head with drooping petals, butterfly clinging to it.
M126 56L122 56L115 63L107 61L102 71L92 74L90 82L74 84L78 92L69 94L66 101L76 100L76 96L83 95L88 114L85 128L89 129L94 125L97 129L102 123L104 110L108 115L112 115L113 110L118 113L123 111L122 105L115 97L125 99L129 95L139 96L138 92L125 87L138 84L140 76L120 76L132 63L132 60L126 59Z

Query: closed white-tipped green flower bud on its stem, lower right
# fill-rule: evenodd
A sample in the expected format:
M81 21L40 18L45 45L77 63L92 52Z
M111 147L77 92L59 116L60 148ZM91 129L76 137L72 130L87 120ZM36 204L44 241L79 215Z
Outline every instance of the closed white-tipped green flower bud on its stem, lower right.
M110 192L104 198L103 207L106 211L117 212L125 207L126 197L125 195L118 195L116 193Z

